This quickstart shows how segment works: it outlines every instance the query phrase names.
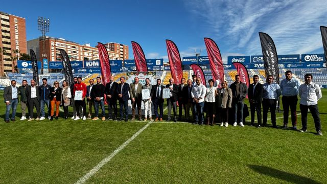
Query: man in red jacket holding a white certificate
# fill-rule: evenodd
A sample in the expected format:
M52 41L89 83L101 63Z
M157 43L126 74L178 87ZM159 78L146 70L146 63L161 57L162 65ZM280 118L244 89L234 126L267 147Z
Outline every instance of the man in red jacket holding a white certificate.
M83 108L83 120L86 120L86 104L85 104L85 96L86 96L86 84L82 82L82 77L77 78L77 83L74 84L74 100L75 100L75 107L77 111L77 116L74 120L80 119L80 106L82 105Z

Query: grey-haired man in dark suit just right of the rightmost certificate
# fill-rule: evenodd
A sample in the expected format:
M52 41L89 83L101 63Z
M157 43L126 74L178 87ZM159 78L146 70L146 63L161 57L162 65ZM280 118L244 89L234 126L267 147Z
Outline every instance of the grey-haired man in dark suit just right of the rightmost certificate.
M172 113L172 105L173 105L173 111L174 111L174 122L177 122L177 94L178 94L178 86L174 84L174 79L169 79L169 84L166 85L167 88L170 89L170 98L167 99L167 105L168 105L168 118L167 121L170 121L171 119L171 113Z

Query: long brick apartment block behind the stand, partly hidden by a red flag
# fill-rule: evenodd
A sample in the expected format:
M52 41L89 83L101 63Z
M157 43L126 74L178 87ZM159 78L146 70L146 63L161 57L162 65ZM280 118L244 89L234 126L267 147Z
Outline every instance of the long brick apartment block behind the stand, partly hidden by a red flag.
M44 43L44 52L43 52L43 43ZM111 51L106 45L109 59L111 60L128 59L128 46L119 43L115 43L115 44L119 45L119 49L116 49L116 51ZM37 39L29 40L27 42L27 45L28 45L28 49L33 49L35 51L38 60L42 60L42 54L45 54L48 58L48 61L60 61L61 58L60 58L59 49L65 50L71 61L99 59L99 51L97 47L90 47L90 44L81 45L77 42L68 41L63 38L53 38L47 36L43 41L42 37L40 37ZM120 49L121 47L122 49ZM127 55L125 56L124 53L121 54L121 50L127 52Z

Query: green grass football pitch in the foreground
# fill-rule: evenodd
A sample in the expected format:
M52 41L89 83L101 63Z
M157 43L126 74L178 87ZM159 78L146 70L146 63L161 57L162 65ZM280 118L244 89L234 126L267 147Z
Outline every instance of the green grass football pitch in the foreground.
M151 123L86 183L327 183L322 93L323 136L315 135L310 113L306 133L250 127L250 117L245 127ZM75 183L148 123L19 121L19 105L16 121L5 123L5 103L0 109L0 183Z

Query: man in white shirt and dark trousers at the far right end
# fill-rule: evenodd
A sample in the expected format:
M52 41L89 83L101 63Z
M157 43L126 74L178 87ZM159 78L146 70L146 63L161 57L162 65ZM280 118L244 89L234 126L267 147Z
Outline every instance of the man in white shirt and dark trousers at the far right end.
M315 127L317 135L322 135L321 125L318 111L318 100L322 97L321 89L318 84L312 82L312 74L305 75L305 83L298 87L298 95L300 96L300 110L301 110L301 120L302 128L300 132L307 131L307 116L308 109L312 114L313 120L315 122Z

